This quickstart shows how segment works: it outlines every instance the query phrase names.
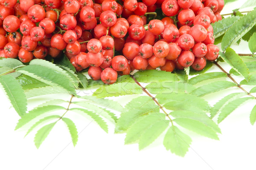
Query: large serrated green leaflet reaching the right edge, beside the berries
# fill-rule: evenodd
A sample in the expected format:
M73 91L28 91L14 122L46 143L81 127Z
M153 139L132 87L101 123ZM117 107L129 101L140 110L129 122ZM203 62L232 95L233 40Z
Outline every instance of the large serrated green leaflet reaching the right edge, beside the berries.
M256 10L250 11L246 15L240 17L224 35L221 48L225 51L232 44L236 43L256 24Z

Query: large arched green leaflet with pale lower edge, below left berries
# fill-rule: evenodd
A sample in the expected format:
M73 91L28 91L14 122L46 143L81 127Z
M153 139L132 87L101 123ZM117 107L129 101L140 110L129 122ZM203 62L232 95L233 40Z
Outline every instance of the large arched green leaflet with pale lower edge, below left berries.
M71 94L76 94L73 83L62 72L41 65L27 65L23 68L18 68L17 71L48 85L63 87Z

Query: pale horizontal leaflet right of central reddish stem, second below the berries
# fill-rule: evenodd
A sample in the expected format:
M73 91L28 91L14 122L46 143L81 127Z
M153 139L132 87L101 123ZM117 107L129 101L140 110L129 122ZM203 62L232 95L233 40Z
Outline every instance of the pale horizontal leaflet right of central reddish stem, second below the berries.
M151 94L190 93L195 87L183 82L152 82L146 87Z

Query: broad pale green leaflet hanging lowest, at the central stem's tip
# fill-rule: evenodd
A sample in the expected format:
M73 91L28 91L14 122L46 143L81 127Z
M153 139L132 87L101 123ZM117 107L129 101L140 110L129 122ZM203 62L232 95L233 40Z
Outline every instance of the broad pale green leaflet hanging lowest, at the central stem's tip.
M181 132L176 126L170 127L163 139L163 145L166 147L166 150L171 150L172 153L182 157L189 151L191 142L192 139Z

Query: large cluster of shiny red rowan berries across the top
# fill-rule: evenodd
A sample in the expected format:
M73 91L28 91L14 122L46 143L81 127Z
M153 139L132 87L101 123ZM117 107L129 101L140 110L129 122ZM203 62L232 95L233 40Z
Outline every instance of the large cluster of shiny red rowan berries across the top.
M29 62L66 54L76 71L89 67L89 76L106 84L134 69L199 71L218 57L210 23L222 19L224 0L0 3L0 57ZM164 17L152 19L159 8Z

